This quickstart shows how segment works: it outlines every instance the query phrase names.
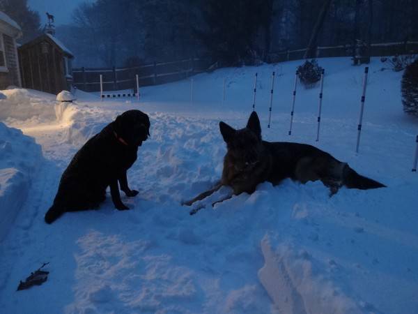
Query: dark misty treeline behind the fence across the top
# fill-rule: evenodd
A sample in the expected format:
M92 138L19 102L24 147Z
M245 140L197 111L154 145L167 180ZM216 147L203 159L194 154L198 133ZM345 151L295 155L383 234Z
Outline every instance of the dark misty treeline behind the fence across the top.
M16 16L10 13L22 23ZM90 67L190 57L254 64L309 43L418 40L417 0L97 0L72 16L56 36L75 53L76 66Z

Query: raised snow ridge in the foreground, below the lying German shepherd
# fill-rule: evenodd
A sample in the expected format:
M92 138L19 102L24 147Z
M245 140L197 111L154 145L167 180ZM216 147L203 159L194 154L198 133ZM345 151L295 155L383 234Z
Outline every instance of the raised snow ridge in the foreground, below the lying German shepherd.
M280 313L362 313L355 301L318 274L307 251L297 253L291 246L274 244L267 234L261 250L265 264L258 277Z

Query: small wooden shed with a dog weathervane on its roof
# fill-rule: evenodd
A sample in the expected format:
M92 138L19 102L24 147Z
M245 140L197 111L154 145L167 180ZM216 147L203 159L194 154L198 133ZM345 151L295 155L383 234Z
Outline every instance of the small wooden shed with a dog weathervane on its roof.
M51 94L71 91L74 55L58 39L45 33L17 50L22 87Z

